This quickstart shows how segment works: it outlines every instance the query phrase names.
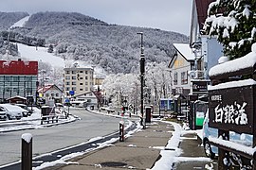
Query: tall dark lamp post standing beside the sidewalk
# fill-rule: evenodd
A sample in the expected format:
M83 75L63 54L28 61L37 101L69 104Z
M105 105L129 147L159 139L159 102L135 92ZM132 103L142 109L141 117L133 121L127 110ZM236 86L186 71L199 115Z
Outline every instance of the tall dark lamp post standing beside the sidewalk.
M145 76L145 55L144 55L144 47L143 47L143 32L138 32L138 35L140 35L140 84L141 84L141 94L140 94L140 113L141 113L141 122L140 124L143 126L143 128L146 127L145 125L145 119L144 119L144 112L143 112L143 88L144 88L144 76Z

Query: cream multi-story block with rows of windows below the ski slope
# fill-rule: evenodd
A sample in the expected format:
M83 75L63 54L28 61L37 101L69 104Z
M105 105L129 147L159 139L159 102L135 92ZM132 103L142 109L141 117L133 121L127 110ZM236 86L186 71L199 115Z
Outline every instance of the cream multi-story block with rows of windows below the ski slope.
M87 67L64 68L64 94L87 93L93 89L94 69Z

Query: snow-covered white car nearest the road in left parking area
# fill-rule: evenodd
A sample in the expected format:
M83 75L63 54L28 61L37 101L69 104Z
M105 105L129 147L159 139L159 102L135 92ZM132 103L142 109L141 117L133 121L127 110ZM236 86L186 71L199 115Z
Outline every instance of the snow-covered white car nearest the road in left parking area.
M11 104L0 104L0 107L4 108L7 111L7 117L11 119L21 119L23 116L27 116L27 110L24 110L18 106Z

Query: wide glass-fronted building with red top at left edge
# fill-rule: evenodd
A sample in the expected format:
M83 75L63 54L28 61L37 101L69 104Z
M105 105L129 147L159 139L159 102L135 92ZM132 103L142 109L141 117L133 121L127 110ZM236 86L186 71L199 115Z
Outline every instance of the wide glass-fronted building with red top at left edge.
M35 99L37 75L37 61L0 60L0 102L16 95Z

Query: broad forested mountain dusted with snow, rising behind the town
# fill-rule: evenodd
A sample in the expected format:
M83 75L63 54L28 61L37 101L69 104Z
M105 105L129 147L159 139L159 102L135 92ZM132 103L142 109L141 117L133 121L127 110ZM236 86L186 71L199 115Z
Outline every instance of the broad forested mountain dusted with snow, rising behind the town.
M0 20L0 25L5 22ZM174 55L173 43L188 40L185 35L154 28L108 25L75 12L39 12L29 17L27 14L8 25L10 33L4 35L10 34L12 42L53 44L55 55L99 65L108 73L137 72L140 53L137 32L144 33L147 62L168 62Z

